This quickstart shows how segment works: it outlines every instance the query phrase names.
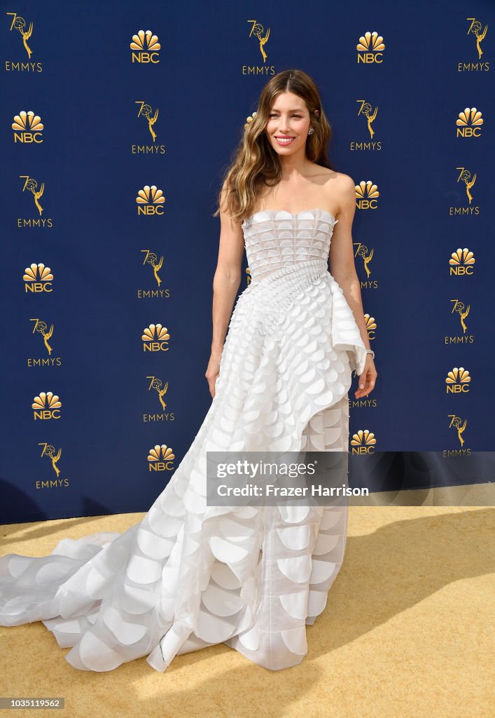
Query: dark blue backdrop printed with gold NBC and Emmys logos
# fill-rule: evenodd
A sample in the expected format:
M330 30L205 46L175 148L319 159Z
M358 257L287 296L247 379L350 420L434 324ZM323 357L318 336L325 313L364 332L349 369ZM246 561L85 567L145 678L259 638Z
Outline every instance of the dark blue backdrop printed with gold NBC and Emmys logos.
M493 3L1 8L1 523L147 510L170 480L211 403L217 192L289 67L356 185L379 378L350 449L490 448Z

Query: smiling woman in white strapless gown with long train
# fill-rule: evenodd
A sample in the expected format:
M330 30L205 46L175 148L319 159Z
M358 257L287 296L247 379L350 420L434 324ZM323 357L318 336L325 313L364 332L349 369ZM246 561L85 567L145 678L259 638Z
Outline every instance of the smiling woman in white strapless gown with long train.
M209 451L347 452L352 368L357 398L374 387L352 253L354 182L330 169L329 134L306 73L270 79L216 213L212 406L143 520L122 534L65 538L49 556L0 559L0 624L42 620L75 668L147 656L164 671L217 643L271 670L307 653L306 625L341 566L347 508L207 505L206 467ZM224 342L244 246L251 282Z

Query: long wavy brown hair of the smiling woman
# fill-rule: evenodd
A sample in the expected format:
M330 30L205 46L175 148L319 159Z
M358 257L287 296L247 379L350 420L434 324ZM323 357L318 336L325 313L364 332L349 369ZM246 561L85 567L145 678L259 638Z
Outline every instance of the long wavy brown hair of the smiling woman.
M263 184L273 187L280 182L281 163L277 152L268 141L265 127L275 95L281 92L298 95L308 108L314 133L308 135L306 140L306 157L321 167L334 169L326 154L331 126L321 107L319 90L314 80L303 70L283 70L273 75L261 91L255 118L243 131L230 159L230 167L222 178L222 186L225 183L225 197L222 201L221 189L214 217L220 214L221 208L222 211L230 213L232 220L241 223L253 212L260 187L263 187Z

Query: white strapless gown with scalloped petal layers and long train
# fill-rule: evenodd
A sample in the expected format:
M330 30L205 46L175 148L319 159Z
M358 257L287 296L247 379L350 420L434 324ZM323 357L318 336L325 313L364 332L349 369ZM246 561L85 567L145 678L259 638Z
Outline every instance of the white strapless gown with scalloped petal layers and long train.
M336 219L267 210L242 224L251 283L232 312L217 393L183 460L125 533L0 559L0 625L42 620L83 671L225 643L273 671L339 572L347 507L206 505L206 452L347 451L351 373L365 347L327 261Z

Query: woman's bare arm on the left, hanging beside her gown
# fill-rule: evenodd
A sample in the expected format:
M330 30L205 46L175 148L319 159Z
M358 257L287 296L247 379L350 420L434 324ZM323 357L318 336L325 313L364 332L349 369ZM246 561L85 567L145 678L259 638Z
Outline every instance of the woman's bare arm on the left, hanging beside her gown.
M225 198L225 186L222 188L222 201ZM232 222L230 213L222 211L220 205L220 244L218 248L217 269L213 277L212 305L212 353L209 358L206 376L209 393L215 394L215 381L220 373L220 357L227 335L232 307L240 286L242 276L242 256L244 237L240 224Z

